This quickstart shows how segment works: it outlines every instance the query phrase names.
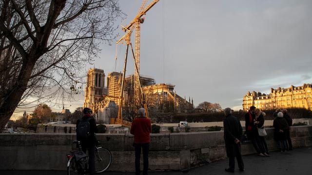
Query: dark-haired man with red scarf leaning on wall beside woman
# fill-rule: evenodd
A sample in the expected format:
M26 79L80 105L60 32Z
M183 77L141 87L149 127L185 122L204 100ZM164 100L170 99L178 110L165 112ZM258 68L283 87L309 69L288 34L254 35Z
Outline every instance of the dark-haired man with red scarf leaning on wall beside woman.
M256 150L259 156L265 157L265 149L261 144L257 126L254 124L255 115L254 115L254 106L250 106L250 110L245 114L245 130L248 136L248 139L252 141L254 149Z

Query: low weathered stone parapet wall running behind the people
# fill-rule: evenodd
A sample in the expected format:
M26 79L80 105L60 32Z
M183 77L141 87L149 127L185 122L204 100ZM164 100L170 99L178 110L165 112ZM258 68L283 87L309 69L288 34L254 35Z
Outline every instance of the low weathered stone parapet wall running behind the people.
M275 150L273 128L267 129L269 149ZM312 146L312 126L291 128L293 147ZM74 149L75 134L0 134L0 170L66 170L66 153ZM134 171L133 136L98 134L111 150L110 171ZM242 154L254 154L251 144L242 145ZM187 170L192 166L226 157L223 131L151 134L151 171Z

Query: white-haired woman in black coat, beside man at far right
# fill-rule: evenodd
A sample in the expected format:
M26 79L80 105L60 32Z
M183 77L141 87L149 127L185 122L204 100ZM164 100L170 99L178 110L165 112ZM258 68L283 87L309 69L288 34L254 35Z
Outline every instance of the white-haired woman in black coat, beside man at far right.
M282 112L277 113L273 126L275 128L274 139L277 141L277 147L280 152L284 152L286 151L286 129L288 129L288 123Z

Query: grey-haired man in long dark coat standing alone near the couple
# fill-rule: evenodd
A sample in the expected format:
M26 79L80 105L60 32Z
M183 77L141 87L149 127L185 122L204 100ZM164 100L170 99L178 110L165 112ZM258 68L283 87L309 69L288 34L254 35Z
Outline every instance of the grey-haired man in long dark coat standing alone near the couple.
M232 115L231 108L225 108L226 118L223 121L224 141L226 154L229 157L229 168L227 172L234 172L235 157L238 163L239 171L244 171L244 162L241 156L240 140L243 135L243 129L239 120Z

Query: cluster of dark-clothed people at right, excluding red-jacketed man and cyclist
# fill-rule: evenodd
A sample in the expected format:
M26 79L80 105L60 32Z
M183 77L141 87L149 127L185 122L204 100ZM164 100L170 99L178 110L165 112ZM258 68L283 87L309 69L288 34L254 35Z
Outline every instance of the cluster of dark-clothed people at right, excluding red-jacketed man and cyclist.
M224 140L226 146L227 157L229 157L229 168L227 172L234 172L235 157L237 159L238 168L244 171L244 163L241 157L240 141L243 135L243 129L240 121L232 115L231 108L225 108L226 118L223 121ZM245 114L245 130L249 140L251 140L257 154L262 157L270 157L268 145L265 140L266 132L264 130L265 113L259 108L251 106L250 110ZM287 109L276 109L273 114L274 121L274 140L281 152L292 150L292 140L290 137L290 126L292 126L292 118L287 113Z

